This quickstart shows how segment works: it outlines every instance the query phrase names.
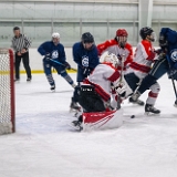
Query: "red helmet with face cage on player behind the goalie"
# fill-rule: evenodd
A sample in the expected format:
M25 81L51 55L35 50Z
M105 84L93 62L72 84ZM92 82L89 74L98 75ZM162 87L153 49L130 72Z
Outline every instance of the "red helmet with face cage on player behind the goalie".
M124 48L127 41L128 33L125 29L118 29L116 31L116 40L119 43L121 48Z

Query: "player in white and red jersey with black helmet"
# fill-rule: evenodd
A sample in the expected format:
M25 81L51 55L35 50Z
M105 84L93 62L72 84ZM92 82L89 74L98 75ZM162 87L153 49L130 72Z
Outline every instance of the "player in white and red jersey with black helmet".
M133 90L133 92L137 88L138 83L148 74L150 71L152 64L156 60L156 52L153 46L155 41L155 32L152 28L145 27L139 31L139 35L142 37L142 41L137 44L134 61L131 63L129 69L127 70L127 74L125 75L125 80ZM157 82L154 83L149 87L150 92L148 93L148 98L145 105L145 113L155 113L159 114L160 111L154 107L156 98L158 96L158 92L160 90L159 84ZM133 96L136 96L135 94ZM129 97L132 102L135 101L134 97Z

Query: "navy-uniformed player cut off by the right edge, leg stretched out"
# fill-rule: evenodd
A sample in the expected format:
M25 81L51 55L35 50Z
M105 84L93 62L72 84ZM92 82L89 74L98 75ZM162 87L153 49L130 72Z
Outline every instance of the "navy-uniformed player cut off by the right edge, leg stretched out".
M132 96L136 101L165 73L169 79L177 80L177 32L169 28L162 28L159 33L158 60L148 75L143 80L137 92ZM177 100L175 101L177 107Z

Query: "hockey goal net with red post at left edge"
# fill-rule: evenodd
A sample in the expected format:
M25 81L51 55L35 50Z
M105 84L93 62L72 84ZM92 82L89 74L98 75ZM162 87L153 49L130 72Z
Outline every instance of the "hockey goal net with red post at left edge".
M0 135L14 132L13 51L0 49Z

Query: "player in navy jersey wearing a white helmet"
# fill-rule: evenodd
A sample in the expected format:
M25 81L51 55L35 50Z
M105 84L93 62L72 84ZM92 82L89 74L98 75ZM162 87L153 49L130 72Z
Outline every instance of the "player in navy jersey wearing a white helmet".
M75 87L73 80L66 72L71 66L66 62L64 46L60 43L60 34L58 32L52 34L51 41L42 43L39 46L38 52L41 55L44 55L43 69L52 91L55 90L55 82L51 72L52 67L54 67L58 74L60 74L71 86Z

